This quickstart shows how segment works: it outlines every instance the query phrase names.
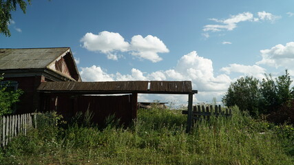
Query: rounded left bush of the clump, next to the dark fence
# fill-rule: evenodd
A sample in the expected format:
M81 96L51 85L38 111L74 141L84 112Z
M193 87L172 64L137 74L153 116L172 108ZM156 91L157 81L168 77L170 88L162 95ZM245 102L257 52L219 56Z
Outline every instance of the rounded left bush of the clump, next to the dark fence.
M260 101L259 83L253 76L239 78L235 83L231 83L222 102L228 107L237 105L242 111L257 113Z

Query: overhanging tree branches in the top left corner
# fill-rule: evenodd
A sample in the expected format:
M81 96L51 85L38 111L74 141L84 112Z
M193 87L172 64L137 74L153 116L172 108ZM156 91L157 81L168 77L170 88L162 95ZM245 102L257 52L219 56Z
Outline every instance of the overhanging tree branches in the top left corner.
M4 34L6 36L10 36L10 30L8 29L8 25L10 25L11 11L17 10L17 4L23 13L25 14L27 5L30 4L31 0L0 0L0 34Z

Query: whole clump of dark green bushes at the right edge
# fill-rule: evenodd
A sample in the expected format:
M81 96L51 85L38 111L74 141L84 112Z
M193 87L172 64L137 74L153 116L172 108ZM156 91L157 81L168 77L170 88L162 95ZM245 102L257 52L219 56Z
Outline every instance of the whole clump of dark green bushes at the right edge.
M239 78L235 83L231 83L222 102L228 107L237 105L242 111L249 111L251 115L276 113L293 100L294 88L290 88L291 83L287 70L284 75L275 79L271 74L265 74L262 81L252 76Z

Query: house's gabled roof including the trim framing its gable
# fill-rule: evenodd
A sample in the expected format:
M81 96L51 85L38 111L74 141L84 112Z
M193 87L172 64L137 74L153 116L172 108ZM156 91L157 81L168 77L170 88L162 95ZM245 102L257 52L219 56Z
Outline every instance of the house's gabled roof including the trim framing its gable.
M54 69L61 58L67 58L74 77ZM17 69L48 69L72 80L81 80L70 47L0 49L0 70Z

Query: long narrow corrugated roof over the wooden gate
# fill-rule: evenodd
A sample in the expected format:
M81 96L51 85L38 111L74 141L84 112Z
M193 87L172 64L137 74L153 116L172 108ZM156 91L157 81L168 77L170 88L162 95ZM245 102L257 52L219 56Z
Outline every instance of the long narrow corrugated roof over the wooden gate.
M48 92L88 94L190 94L191 81L107 81L107 82L44 82L37 89Z

